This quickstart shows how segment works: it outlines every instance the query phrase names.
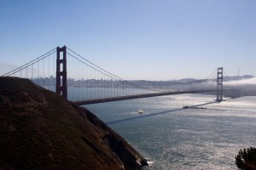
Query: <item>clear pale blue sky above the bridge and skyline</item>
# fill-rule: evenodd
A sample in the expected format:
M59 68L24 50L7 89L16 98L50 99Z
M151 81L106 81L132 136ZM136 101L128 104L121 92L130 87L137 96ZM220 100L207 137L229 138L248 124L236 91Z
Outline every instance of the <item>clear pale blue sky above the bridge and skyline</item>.
M0 0L0 69L66 45L131 80L256 75L255 0ZM6 70L8 71L8 70Z

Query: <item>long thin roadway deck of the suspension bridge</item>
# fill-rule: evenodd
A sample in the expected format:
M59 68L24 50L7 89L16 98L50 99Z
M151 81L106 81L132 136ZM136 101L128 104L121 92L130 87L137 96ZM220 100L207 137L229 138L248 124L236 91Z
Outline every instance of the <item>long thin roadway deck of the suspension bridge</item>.
M226 89L224 91L231 91L231 90ZM125 99L140 99L140 98L150 98L150 97L174 95L174 94L201 94L201 93L211 93L211 92L216 92L216 89L215 90L189 90L189 91L162 92L162 93L156 93L156 94L136 94L136 95L101 98L101 99L84 99L84 100L76 100L72 102L75 105L90 105L90 104L106 103L111 101L120 101Z

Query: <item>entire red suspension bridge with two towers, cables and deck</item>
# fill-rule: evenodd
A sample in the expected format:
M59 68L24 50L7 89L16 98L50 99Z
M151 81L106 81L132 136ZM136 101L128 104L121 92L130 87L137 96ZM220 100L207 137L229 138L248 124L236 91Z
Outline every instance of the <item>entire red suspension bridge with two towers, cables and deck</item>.
M239 89L232 88L230 84L229 88L224 88L224 82L229 81L224 81L223 67L218 67L214 72L207 77L206 82L215 79L216 88L206 89L197 85L183 90L155 89L117 77L63 46L50 50L2 77L31 79L32 82L61 94L76 105L174 94L215 93L217 102L223 100L224 93L229 93L232 98L240 97Z

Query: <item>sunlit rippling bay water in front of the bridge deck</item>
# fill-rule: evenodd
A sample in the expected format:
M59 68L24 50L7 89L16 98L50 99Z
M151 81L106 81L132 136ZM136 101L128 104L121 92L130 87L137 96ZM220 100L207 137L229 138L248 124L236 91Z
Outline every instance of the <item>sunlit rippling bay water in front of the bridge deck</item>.
M85 107L147 158L150 169L236 169L238 151L256 146L256 97L215 98L183 94Z

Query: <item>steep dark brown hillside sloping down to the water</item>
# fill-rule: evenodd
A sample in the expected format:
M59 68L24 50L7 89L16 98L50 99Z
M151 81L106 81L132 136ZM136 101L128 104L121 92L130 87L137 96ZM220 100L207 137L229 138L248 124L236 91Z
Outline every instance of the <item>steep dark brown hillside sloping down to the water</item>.
M0 169L141 169L131 145L90 111L27 79L0 77Z

